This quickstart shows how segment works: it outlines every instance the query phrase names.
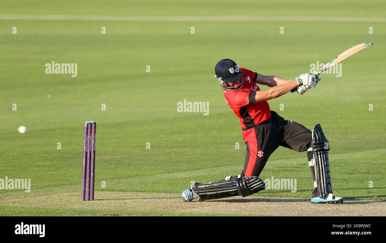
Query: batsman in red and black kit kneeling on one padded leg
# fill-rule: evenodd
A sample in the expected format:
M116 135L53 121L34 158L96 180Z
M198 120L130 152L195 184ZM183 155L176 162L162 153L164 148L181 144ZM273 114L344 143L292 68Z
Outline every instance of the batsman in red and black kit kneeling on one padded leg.
M307 151L314 189L313 203L342 203L343 198L332 193L328 150L330 146L320 124L312 131L291 120L284 120L269 108L267 100L288 92L301 95L315 88L319 75L303 73L293 80L264 76L239 67L233 60L223 59L216 64L215 78L223 88L225 100L239 118L242 136L247 145L244 170L238 176L227 176L214 183L195 183L182 193L183 201L199 201L248 196L265 189L259 178L269 156L283 146L298 152ZM260 90L259 85L271 88Z

